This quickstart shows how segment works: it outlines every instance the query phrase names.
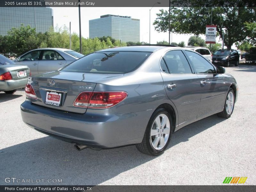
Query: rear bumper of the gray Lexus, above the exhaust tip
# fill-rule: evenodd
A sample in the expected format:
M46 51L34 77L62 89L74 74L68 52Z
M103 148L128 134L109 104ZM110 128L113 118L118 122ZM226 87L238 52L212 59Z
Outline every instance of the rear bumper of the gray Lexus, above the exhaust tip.
M20 106L22 120L39 132L60 140L94 148L140 143L153 110L128 114L67 113L32 104ZM94 109L104 110L104 109Z

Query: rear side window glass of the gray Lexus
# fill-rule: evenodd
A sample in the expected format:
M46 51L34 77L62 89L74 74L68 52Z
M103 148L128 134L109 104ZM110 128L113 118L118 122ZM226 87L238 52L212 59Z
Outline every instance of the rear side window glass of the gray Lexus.
M182 51L180 50L174 50L174 51L169 51L167 52L163 60L166 64L166 67L168 71L163 67L163 61L160 62L160 66L162 70L165 73L170 73L170 74L191 74L191 68L188 64L188 61Z

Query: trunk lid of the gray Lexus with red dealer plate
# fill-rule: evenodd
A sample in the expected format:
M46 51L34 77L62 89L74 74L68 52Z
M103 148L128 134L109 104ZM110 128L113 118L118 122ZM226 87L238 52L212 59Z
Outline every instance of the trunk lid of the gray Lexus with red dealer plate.
M123 74L113 75L53 71L36 75L29 78L28 81L28 83L32 84L37 96L37 100L31 99L31 101L34 104L62 110L64 112L85 113L87 108L73 106L79 93L83 91L93 91L98 82L104 81L105 79L113 79L118 76L123 76ZM49 101L49 97L51 101ZM56 97L57 100L52 101L53 97Z

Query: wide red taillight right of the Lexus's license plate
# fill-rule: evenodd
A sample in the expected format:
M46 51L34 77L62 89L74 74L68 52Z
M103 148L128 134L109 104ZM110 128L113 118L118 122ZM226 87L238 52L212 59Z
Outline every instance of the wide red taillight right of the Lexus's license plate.
M127 97L126 92L81 92L74 101L74 107L105 109Z

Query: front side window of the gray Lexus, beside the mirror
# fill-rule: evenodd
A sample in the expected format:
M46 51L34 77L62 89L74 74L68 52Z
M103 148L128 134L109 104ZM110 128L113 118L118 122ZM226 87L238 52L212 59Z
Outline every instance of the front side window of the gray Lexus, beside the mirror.
M185 52L197 73L215 73L214 67L204 57L195 52Z

